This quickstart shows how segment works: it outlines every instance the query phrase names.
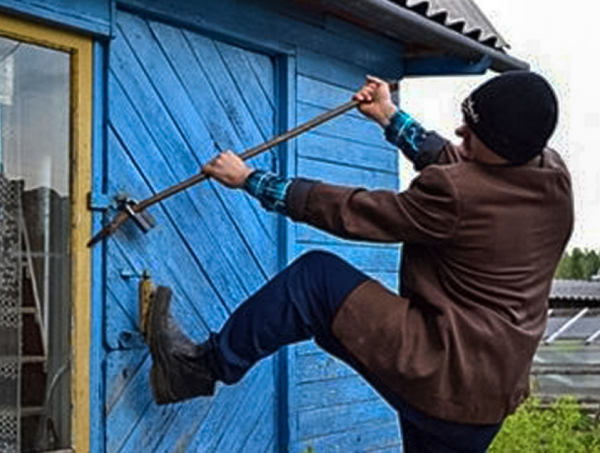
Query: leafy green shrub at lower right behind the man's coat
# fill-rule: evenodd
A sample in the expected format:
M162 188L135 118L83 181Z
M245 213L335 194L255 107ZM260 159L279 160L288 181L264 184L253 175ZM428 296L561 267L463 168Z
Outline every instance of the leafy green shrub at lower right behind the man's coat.
M488 453L600 453L600 425L569 396L550 408L530 398L506 419Z

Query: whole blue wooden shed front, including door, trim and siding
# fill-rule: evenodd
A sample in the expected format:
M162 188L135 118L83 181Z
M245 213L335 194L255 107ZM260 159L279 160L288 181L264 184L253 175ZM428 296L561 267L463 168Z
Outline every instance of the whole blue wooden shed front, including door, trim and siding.
M95 33L95 190L143 199L193 175L220 148L243 151L346 102L367 73L402 76L402 48L287 2L0 0L9 10ZM253 165L289 176L396 189L397 153L356 112ZM198 341L308 249L340 254L395 288L395 246L345 242L265 213L208 182L151 208L95 250L100 330L92 354L95 452L398 452L393 411L313 343L264 360L210 399L159 407L138 336L137 278L174 290L174 314ZM96 224L97 225L97 224ZM101 288L101 289L98 289ZM100 403L96 407L93 403Z

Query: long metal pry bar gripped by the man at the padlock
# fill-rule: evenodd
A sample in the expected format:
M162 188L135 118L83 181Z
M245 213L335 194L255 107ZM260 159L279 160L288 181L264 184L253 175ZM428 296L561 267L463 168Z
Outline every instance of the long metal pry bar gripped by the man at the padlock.
M398 89L398 83L390 83L390 91L396 91ZM310 131L311 129L323 124L325 122L334 119L335 117L339 117L341 114L349 112L349 110L354 109L360 104L357 100L351 100L346 102L339 107L336 107L333 110L325 112L323 114L314 117L313 119L308 120L307 122L300 124L299 126L294 127L293 129L289 129L289 131L284 132L278 136L273 137L272 139L261 143L258 146L254 146L253 148L249 148L243 153L239 154L239 157L242 160L248 160L253 157L256 157L260 153L263 153L274 146L279 145L280 143L284 143L290 139L293 139L300 134L304 134L306 131ZM150 196L150 198L140 201L136 203L131 199L127 199L124 204L121 204L121 211L112 219L112 221L106 225L100 232L96 233L88 242L88 247L93 247L98 242L104 240L106 237L109 237L114 233L128 218L133 218L140 228L145 228L149 226L146 220L142 220L140 213L142 213L145 208L152 206L153 204L157 204L159 201L167 199L169 196L174 194L178 194L193 185L198 184L204 180L208 179L208 176L205 173L200 172L198 175L194 175L187 180L180 182L179 184L175 184L174 186L167 187L162 192L155 194L154 196Z

